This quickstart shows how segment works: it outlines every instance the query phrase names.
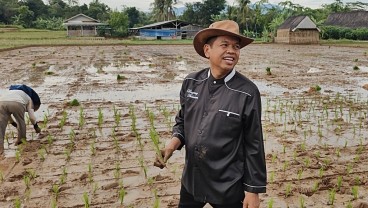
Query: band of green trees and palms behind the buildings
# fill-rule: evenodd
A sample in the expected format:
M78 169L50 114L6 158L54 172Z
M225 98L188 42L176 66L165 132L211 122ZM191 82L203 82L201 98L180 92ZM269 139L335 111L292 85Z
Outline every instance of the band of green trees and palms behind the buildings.
M115 36L127 36L128 28L139 27L154 22L180 19L201 26L213 21L232 19L239 23L245 35L254 38L268 38L275 35L278 26L290 16L307 15L319 27L331 13L353 10L368 10L368 3L354 1L343 3L335 0L321 8L311 9L283 1L278 5L268 0L251 3L250 0L236 0L227 5L226 0L202 0L186 3L180 15L175 14L177 0L155 0L149 12L136 7L112 10L101 0L79 5L78 0L0 0L0 27L16 26L48 30L64 30L63 22L74 15L83 13L101 22L108 23Z

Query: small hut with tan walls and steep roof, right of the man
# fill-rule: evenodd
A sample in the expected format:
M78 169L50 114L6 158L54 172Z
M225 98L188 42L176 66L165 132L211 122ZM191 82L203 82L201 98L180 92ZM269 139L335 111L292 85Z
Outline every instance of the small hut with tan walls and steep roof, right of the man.
M316 24L308 16L292 16L277 29L276 43L317 44L319 32Z

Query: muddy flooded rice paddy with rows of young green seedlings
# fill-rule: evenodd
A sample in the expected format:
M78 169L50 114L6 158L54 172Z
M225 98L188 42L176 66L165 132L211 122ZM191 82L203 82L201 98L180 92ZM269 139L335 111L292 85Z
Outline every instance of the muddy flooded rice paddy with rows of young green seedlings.
M261 207L368 203L367 53L242 50L236 69L262 94L268 187ZM177 207L184 151L163 170L153 161L171 137L183 78L205 67L192 46L0 52L0 93L23 83L43 103L36 112L41 134L28 125L27 142L16 147L16 129L8 126L0 207Z

